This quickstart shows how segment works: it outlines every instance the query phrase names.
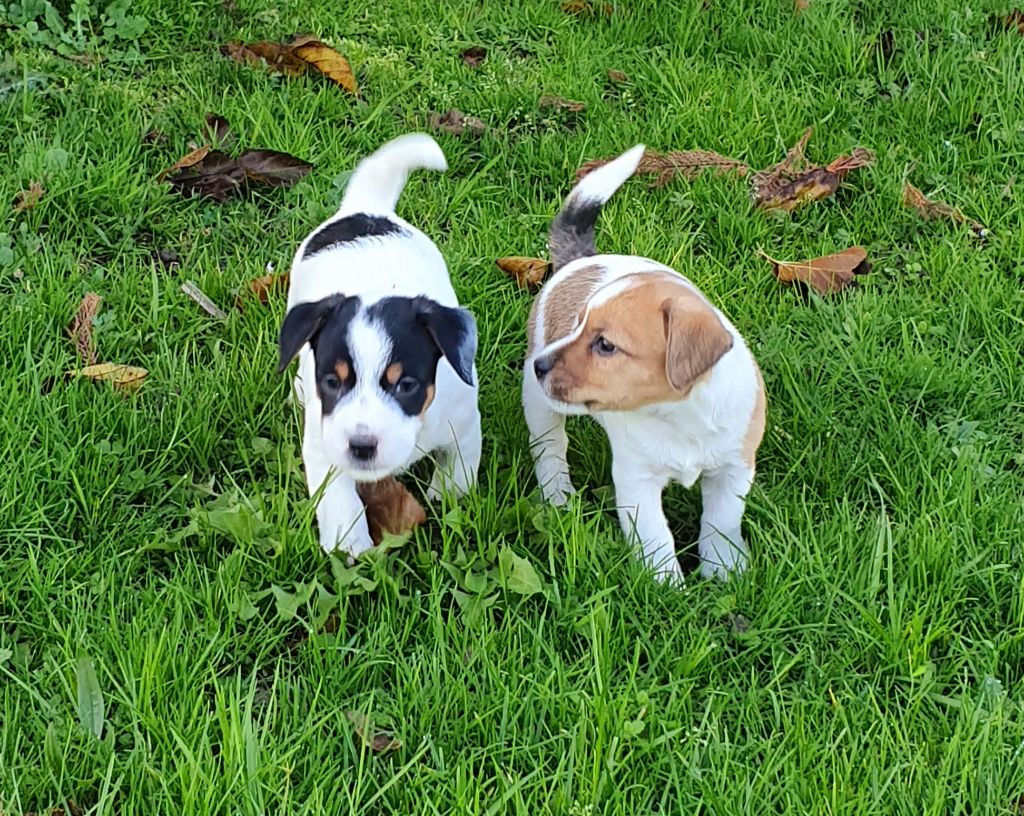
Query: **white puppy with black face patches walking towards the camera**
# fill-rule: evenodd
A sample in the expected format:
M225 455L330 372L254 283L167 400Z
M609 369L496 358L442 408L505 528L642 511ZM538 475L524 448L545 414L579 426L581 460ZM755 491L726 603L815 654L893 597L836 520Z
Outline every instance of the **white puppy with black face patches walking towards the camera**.
M373 546L357 482L436 458L428 496L464 493L480 461L476 324L459 307L433 243L394 208L410 171L447 169L424 134L356 167L338 212L299 245L279 372L298 355L302 461L321 546Z

